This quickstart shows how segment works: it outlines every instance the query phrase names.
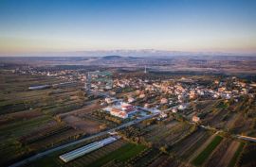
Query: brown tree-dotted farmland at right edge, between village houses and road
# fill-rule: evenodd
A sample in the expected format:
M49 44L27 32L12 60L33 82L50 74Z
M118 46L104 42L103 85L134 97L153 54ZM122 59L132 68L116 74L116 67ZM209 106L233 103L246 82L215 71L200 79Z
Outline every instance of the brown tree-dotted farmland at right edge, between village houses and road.
M199 114L202 118L202 124L253 137L256 134L254 128L256 115L253 111L256 109L255 97L242 96L237 100L238 102L226 100L215 103L209 113L202 112L202 115Z

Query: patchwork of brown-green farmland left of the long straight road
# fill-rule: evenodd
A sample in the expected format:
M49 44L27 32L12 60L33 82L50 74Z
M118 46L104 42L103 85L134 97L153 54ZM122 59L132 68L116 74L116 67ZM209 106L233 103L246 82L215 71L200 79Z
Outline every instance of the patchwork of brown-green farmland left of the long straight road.
M1 71L0 77L0 161L4 166L107 127L78 117L99 109L97 100L87 102L87 97L82 97L80 83L76 88L62 86L28 91L29 86L65 80L6 71Z

